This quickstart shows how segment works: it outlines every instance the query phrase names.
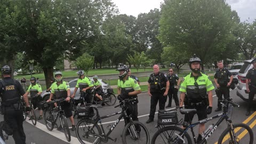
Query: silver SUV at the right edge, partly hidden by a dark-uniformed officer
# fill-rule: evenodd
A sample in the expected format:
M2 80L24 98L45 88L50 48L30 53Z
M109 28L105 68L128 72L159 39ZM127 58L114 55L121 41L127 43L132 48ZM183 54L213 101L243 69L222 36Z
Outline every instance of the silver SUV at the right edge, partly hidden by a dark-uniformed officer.
M238 77L238 85L237 85L237 91L236 95L243 99L244 101L248 101L249 99L249 94L246 91L246 74L249 69L253 67L252 65L252 60L245 60L244 65L242 68L239 70L239 73L237 75ZM253 101L256 101L256 97L254 97Z

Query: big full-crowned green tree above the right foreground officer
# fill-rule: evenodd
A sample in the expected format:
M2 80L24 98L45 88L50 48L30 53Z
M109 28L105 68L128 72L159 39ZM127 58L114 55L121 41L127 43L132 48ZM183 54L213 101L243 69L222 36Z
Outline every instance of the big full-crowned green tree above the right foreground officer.
M158 38L164 46L182 47L206 63L213 52L223 53L233 41L234 17L222 0L165 0Z

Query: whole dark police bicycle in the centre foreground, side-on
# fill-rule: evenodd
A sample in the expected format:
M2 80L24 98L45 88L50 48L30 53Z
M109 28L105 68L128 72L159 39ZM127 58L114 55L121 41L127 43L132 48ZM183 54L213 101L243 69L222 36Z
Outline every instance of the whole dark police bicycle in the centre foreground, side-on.
M98 111L98 107L102 107L102 106L87 106L89 108L91 108L90 113L85 113L85 111L83 111L81 109L79 113L79 115L84 115L85 117L82 118L76 125L76 136L77 139L79 140L79 142L81 143L101 143L101 142L108 142L108 140L113 140L116 141L117 138L112 139L109 137L110 133L113 132L113 130L115 129L116 125L121 121L122 118L127 118L129 119L130 123L127 123L124 127L123 133L122 133L122 142L124 144L126 143L138 143L138 144L142 144L142 143L149 143L149 133L148 130L146 128L145 125L143 125L142 123L138 122L138 121L132 121L131 115L127 115L126 110L129 107L129 105L131 105L132 102L135 102L137 100L137 98L134 99L125 99L123 101L121 101L119 103L119 105L115 106L115 108L117 107L121 107L122 110L118 111L116 113L113 114L108 114L105 116L100 116L99 115L99 111ZM84 108L86 110L86 108ZM96 116L93 117L93 113L94 110L96 111ZM79 109L78 109L79 111ZM89 111L89 110L86 110ZM109 131L106 133L105 130L103 129L103 125L101 123L101 119L107 118L107 117L111 117L111 116L115 116L121 114L118 119L116 120L116 122L113 125L109 125ZM90 115L90 117L88 117L88 115ZM100 124L100 126L98 125L98 123Z

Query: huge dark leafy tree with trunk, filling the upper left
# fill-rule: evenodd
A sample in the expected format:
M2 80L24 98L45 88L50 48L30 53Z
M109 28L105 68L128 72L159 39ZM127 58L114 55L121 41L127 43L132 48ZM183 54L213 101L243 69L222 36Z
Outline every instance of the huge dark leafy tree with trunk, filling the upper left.
M81 55L107 15L115 13L110 0L1 1L0 10L1 31L8 26L0 35L1 52L12 58L21 51L25 61L34 59L43 68L46 87L59 58Z

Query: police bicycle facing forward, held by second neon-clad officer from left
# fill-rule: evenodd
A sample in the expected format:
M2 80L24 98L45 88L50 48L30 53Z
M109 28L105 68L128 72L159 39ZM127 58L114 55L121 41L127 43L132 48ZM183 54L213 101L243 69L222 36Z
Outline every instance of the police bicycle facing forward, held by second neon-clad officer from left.
M61 110L61 103L65 102L65 98L52 100L47 102L47 108L44 110L44 122L45 126L49 131L52 131L54 126L58 127L57 119L60 119L60 126L64 130L65 137L67 141L71 140L70 131L68 127L67 118L64 114L64 111ZM57 107L54 106L54 103L57 103Z

